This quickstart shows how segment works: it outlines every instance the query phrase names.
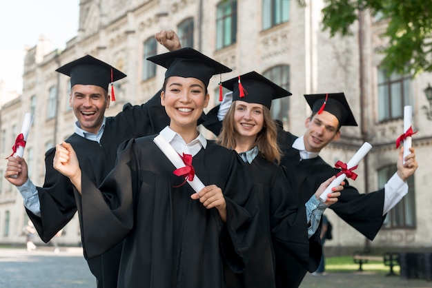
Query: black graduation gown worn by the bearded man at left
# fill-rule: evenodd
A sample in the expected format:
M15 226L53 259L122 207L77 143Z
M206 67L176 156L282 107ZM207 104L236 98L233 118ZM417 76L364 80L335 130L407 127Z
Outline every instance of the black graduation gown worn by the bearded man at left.
M66 139L77 152L81 169L90 181L99 185L115 166L117 148L128 138L155 134L169 124L164 107L160 105L159 92L147 103L132 106L127 103L123 112L114 117L107 117L104 134L100 143L90 141L78 134ZM37 187L41 203L41 216L35 216L29 210L27 214L35 224L37 232L44 242L48 242L63 228L77 211L77 203L69 179L52 167L55 149L46 153L46 176L43 187ZM80 218L82 226L83 219ZM82 238L81 227L81 238ZM105 255L88 259L83 243L84 256L88 260L90 271L97 278L97 287L117 287L117 271L121 253L121 244L112 247Z

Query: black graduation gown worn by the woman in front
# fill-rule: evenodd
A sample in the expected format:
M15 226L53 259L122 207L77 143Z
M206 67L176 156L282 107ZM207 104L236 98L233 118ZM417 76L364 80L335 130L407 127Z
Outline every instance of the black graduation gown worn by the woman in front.
M210 141L193 157L196 176L224 193L223 223L217 209L190 198L193 189L181 185L184 178L173 174L153 138L121 145L117 165L99 189L83 173L79 213L88 257L124 239L119 287L221 288L222 259L242 271L255 238L258 208L250 172L235 152Z

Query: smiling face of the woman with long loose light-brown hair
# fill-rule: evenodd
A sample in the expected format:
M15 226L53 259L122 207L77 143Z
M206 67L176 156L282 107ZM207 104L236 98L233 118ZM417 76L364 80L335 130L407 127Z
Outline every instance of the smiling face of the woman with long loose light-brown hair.
M234 123L236 138L255 142L264 126L264 106L257 103L235 101Z

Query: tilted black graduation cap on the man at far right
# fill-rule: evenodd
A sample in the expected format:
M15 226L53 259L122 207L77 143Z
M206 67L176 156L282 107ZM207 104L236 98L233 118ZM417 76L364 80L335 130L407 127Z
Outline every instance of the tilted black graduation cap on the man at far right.
M357 126L344 92L304 95L312 112L327 111L335 115L340 126Z

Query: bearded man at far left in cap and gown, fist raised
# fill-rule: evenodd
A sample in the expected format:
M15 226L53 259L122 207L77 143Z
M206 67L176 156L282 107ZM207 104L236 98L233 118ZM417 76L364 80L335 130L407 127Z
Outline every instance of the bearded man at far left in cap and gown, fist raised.
M161 31L155 37L169 50L179 48L179 40L173 32L168 35L167 31ZM117 116L105 117L104 112L110 105L110 83L124 78L126 74L99 59L84 56L63 65L57 72L70 76L70 106L77 117L75 133L66 141L74 147L81 167L97 185L115 166L117 148L123 141L155 134L169 123L160 105L160 92L145 104L132 106L127 103ZM72 219L79 203L75 200L69 179L52 167L54 155L54 148L46 152L46 174L42 187L36 187L28 178L23 158L8 158L5 172L6 179L16 185L23 195L26 212L45 243ZM17 175L17 178L12 178L12 175ZM92 259L86 256L85 243L83 247L90 271L97 279L97 287L117 287L121 243Z

